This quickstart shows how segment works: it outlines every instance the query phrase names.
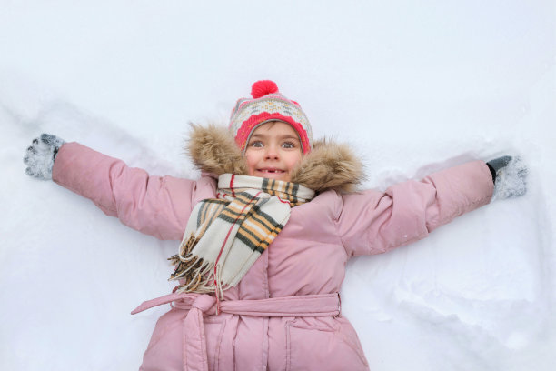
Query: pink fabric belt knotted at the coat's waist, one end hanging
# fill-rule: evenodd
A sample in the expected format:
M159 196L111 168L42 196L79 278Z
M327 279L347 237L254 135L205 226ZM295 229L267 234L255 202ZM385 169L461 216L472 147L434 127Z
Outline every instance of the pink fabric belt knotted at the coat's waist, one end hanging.
M208 371L203 316L216 313L216 297L207 294L169 294L145 301L134 309L132 315L168 303L189 311L184 319L184 371ZM220 302L219 309L232 315L261 317L339 316L341 312L338 293L228 300Z

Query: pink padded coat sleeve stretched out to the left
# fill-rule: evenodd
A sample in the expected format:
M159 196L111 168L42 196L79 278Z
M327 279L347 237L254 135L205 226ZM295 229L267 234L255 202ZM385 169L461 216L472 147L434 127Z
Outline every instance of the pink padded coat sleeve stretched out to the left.
M215 194L215 181L209 177L192 181L151 176L78 143L60 148L53 180L91 199L104 214L160 239L182 239L193 206Z

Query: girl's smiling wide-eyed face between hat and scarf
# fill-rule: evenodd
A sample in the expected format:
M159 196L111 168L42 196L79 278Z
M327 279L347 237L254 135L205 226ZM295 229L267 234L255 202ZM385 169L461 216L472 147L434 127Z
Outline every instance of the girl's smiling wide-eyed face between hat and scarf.
M302 160L302 146L293 127L280 121L260 125L245 149L249 175L284 180Z

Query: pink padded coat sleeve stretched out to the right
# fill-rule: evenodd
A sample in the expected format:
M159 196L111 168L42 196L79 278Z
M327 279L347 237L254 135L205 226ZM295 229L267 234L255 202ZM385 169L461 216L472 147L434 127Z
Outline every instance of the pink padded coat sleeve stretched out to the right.
M380 254L419 240L438 226L486 205L492 176L473 161L410 180L386 192L343 195L337 227L349 256Z

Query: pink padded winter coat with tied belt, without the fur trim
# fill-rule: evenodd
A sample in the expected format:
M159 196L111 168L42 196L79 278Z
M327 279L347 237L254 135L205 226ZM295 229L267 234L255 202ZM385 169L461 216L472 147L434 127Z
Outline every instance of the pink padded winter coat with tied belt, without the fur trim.
M53 179L124 225L172 240L182 239L193 206L216 190L211 177L149 176L77 143L60 148ZM154 328L142 369L368 370L340 308L347 260L425 237L487 204L492 188L488 167L474 161L384 193L320 193L293 207L273 244L224 292L218 316L208 295L169 295L139 307L174 301Z

